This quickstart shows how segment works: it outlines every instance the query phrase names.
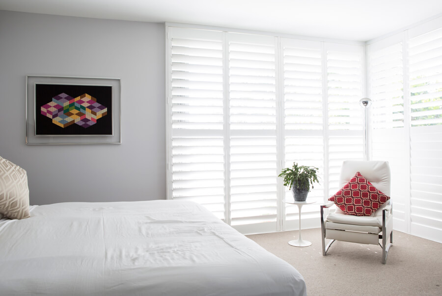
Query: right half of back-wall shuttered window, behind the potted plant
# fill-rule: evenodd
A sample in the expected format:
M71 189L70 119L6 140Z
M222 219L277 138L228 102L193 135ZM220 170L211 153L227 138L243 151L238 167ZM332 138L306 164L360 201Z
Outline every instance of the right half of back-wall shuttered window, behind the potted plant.
M321 183L308 197L319 203L341 187L342 161L364 157L359 106L363 48L286 38L282 44L285 167L296 161L319 168ZM290 191L285 198L292 198ZM317 204L306 205L305 222L314 225L317 212ZM295 227L297 206L287 204L284 217L286 228Z

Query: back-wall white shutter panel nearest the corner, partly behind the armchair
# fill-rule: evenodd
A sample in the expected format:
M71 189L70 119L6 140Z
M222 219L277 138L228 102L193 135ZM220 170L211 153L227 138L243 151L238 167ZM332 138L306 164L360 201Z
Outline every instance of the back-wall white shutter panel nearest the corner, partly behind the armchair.
M362 46L326 43L329 134L329 196L339 189L344 160L363 160L364 55Z

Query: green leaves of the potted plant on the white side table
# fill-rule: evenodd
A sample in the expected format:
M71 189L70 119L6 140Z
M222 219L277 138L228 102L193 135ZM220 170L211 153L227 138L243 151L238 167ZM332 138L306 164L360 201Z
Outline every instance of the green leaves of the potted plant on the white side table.
M318 181L318 176L316 172L318 168L315 167L307 167L307 166L298 166L296 162L293 163L293 167L285 168L278 174L278 177L283 177L284 186L287 186L289 189L292 189L292 186L298 187L300 189L308 189L310 191L313 187L313 183Z

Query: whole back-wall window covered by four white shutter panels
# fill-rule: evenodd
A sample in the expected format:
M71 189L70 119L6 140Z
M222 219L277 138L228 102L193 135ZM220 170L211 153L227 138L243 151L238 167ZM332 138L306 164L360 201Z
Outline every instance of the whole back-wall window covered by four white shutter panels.
M342 160L363 158L363 46L178 26L167 36L168 198L243 233L296 228L281 169L318 167L309 198L322 202ZM303 225L319 226L317 205Z

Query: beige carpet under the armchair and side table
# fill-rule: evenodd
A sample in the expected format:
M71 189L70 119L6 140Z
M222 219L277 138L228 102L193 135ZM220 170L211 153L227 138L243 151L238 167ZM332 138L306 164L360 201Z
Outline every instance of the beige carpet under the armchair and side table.
M442 296L442 244L393 231L387 264L374 245L334 242L322 256L321 229L305 229L310 247L292 247L298 231L248 237L293 265L307 284L308 296Z

